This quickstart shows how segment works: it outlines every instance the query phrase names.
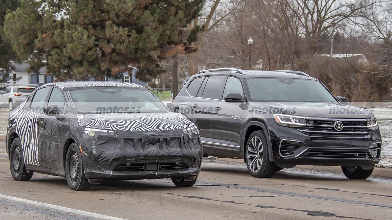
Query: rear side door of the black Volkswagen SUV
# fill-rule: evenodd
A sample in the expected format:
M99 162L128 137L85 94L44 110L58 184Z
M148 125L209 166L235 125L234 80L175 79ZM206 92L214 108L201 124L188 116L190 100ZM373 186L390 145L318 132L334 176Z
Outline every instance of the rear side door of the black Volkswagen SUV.
M213 150L215 106L218 99L221 98L225 79L226 76L206 77L191 102L194 113L191 117L196 119L195 124L199 129L201 144L207 155L216 155Z

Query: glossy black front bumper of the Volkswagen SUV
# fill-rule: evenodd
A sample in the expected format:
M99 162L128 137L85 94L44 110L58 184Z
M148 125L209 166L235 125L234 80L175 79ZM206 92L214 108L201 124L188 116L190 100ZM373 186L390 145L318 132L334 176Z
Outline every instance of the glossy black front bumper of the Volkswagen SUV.
M371 169L380 160L379 156L372 157L369 152L369 149L378 143L379 154L381 154L379 129L373 130L365 136L353 137L307 135L295 128L280 126L276 123L271 124L268 130L270 152L272 152L270 159L282 168L315 165L360 166L363 169ZM285 143L284 141L298 143L296 157L284 156L284 151L281 150L281 144Z

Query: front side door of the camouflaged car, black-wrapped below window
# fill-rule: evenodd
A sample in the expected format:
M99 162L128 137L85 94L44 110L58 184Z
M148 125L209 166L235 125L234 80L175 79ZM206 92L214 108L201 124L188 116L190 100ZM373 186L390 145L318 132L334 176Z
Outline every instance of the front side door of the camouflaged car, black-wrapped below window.
M39 121L45 123L45 126L41 126L40 128L40 134L42 134L43 139L50 140L47 149L42 152L41 158L42 160L45 160L45 164L47 164L49 168L61 170L61 160L59 158L61 154L60 137L66 104L64 94L59 88L52 88L46 106L49 105L57 105L59 114L56 116L40 115Z

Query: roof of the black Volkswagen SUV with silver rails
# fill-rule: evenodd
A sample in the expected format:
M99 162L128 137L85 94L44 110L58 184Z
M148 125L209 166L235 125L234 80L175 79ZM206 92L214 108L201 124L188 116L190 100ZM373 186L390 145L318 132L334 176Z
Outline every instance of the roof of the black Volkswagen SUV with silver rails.
M214 72L203 72L198 73L196 76L210 76L210 75L232 75L239 76L242 78L293 78L293 79L311 79L316 80L311 76L303 76L296 73L291 72L278 72L278 71L267 71L267 70L242 70L243 74L235 71L214 71ZM195 76L195 77L196 77Z

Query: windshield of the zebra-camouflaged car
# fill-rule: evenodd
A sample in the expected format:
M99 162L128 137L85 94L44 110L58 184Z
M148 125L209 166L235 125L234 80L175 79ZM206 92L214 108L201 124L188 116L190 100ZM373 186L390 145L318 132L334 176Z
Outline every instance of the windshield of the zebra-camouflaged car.
M118 87L94 87L70 91L73 103L82 113L168 112L165 106L146 90Z

